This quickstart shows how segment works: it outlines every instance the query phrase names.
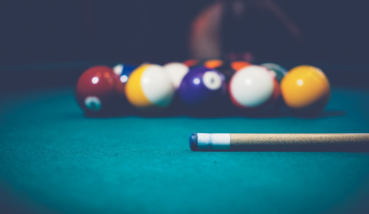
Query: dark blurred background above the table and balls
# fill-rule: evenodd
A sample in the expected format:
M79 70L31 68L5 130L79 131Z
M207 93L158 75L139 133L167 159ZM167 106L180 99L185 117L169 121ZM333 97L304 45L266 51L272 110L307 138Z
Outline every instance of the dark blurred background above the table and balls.
M72 86L89 66L246 58L369 87L368 3L1 1L0 89ZM206 27L204 27L206 26Z

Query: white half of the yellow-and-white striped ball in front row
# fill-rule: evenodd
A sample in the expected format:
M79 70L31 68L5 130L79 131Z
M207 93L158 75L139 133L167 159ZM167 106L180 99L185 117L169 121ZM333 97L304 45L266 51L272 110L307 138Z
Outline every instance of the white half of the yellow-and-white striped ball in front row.
M156 106L168 106L173 99L175 90L163 66L148 66L142 73L140 84L146 98Z

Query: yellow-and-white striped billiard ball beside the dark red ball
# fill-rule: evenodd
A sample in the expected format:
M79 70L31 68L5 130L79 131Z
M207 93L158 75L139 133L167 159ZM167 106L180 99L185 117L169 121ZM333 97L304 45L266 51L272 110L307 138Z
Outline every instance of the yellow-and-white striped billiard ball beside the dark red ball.
M125 84L127 100L141 109L166 107L175 89L163 66L143 64L135 69Z

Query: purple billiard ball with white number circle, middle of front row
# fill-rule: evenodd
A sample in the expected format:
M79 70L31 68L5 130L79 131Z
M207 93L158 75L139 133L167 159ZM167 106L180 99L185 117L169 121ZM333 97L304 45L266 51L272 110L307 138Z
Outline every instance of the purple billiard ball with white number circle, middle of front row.
M225 76L203 66L190 69L178 89L180 99L189 106L221 102L226 92Z

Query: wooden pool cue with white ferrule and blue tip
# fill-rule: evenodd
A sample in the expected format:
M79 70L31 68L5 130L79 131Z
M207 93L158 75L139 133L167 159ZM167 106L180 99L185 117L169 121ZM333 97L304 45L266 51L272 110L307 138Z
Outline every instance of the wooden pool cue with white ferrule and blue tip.
M369 134L192 133L192 151L369 152Z

